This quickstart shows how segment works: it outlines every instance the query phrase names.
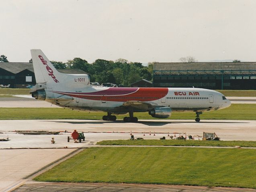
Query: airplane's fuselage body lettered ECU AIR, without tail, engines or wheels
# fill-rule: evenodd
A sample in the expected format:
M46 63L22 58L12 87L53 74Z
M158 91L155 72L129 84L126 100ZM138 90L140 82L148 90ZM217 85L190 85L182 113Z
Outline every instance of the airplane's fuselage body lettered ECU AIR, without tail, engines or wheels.
M138 91L131 91L130 94L121 93L118 92L120 88L111 88L111 92L116 91L117 93L100 94L100 92L108 89L109 88L106 87L92 86L87 86L84 89L80 88L79 90L72 90L69 92L55 91L51 89L49 90L49 92L51 92L49 95L53 96L52 92L54 92L54 96L53 98L51 97L46 100L62 107L70 107L80 110L100 110L115 113L128 112L128 110L126 111L125 109L122 109L121 111L118 110L120 106L123 106L123 104L128 101L139 101L154 104L155 106L166 106L170 107L172 111L210 111L223 109L231 104L229 100L225 99L223 94L217 91L201 88L164 88L167 89L167 92L162 93L160 98L157 96L151 97L150 94L151 90L152 94L155 94L157 88L144 88L144 90L147 90L145 94L143 94L143 92L135 94ZM129 90L130 88L125 89ZM141 88L137 89L139 90ZM160 89L160 91L162 91L162 88ZM158 95L161 95L161 93ZM57 98L63 98L63 100L58 100ZM134 112L144 111L147 110L144 108L136 108L134 110Z

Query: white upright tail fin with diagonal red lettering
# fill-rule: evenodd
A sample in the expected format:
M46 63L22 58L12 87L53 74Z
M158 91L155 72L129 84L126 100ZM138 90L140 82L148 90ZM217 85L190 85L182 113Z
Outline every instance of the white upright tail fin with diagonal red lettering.
M59 83L60 73L40 49L32 49L31 56L37 83Z

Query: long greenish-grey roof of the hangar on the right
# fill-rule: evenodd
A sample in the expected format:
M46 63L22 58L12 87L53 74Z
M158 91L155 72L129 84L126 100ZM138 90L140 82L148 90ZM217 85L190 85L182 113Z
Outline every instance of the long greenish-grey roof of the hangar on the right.
M154 74L256 74L256 62L155 63Z

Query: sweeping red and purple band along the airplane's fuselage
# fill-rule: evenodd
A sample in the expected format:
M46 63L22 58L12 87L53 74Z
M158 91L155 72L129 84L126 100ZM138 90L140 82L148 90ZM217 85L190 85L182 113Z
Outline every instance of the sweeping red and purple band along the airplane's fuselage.
M129 89L129 88L127 88ZM94 94L94 92L91 92L90 94L86 93L68 93L68 92L55 92L59 94L65 94L72 97L82 98L82 99L88 99L88 100L106 100L106 101L116 101L116 102L127 102L127 101L154 101L159 100L162 97L166 96L168 93L168 88L138 88L136 92L133 92L131 94L127 94L127 89L119 89L116 88L117 91L115 93L111 93L109 95L98 95ZM134 90L133 88L130 88L131 90ZM114 91L114 90L113 90ZM54 92L54 91L53 91Z

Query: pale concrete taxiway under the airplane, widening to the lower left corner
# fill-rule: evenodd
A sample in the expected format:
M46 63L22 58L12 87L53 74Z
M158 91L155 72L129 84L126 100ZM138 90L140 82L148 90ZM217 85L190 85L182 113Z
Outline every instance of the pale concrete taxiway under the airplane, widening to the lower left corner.
M138 123L100 120L1 120L0 124L0 132L3 132L0 138L10 139L0 142L0 172L8 173L0 178L0 191L8 191L21 184L25 176L76 150L74 148L94 146L100 140L129 139L130 132L135 138L144 139L159 139L162 136L170 139L167 137L168 132L201 136L203 132L216 132L222 140L256 140L256 121L248 120L202 120L199 123L194 120L139 120ZM70 132L75 129L85 132L86 141L67 142ZM61 131L61 134L23 135L16 134L15 130ZM51 144L52 137L55 144Z

